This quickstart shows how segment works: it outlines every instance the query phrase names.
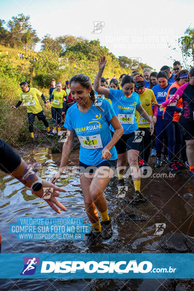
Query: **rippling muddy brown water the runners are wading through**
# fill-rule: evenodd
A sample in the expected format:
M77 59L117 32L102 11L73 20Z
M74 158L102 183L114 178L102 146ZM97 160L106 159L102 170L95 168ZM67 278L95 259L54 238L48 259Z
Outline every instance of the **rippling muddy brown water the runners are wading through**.
M150 159L153 173L149 178L142 178L141 189L147 202L137 206L130 205L129 195L134 193L130 177L126 179L127 195L117 197L117 179L112 178L105 190L109 214L112 218L113 237L96 246L88 246L87 238L83 241L17 241L16 235L9 233L10 224L16 223L17 217L81 217L89 222L85 214L83 196L77 170L79 152L70 156L67 171L56 185L64 187L59 201L67 208L67 212L56 214L45 201L36 198L31 191L4 173L0 173L0 232L2 236L2 253L150 253L162 252L159 248L161 237L169 232L186 234L194 213L194 197L185 198L184 194L194 195L194 182L188 171L174 178L168 178L167 166L154 169L154 158ZM50 179L57 171L61 154L51 154L50 148L32 150L23 156L31 162L33 168L42 178ZM163 174L162 174L163 173ZM156 177L154 178L153 174ZM156 175L158 174L158 175ZM162 174L162 177L159 175ZM165 176L165 175L166 176ZM156 223L166 224L162 235L154 235ZM194 227L190 230L194 236ZM169 284L165 289L164 284ZM176 289L180 284L188 289ZM101 290L194 290L193 280L173 282L164 279L1 279L0 290L25 291L101 291Z

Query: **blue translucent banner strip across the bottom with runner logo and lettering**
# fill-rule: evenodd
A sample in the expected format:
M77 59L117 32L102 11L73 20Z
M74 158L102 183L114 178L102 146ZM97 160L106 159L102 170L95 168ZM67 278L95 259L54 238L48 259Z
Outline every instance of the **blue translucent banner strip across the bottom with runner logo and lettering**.
M0 254L0 278L194 278L194 254Z

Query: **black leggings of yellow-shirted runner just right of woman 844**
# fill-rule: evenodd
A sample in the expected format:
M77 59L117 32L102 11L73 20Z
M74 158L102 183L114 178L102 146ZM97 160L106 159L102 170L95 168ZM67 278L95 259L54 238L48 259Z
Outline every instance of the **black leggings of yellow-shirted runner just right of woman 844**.
M144 162L148 162L150 155L150 146L151 146L151 132L148 128L139 128L139 130L145 131L145 135L140 145L140 159L143 159Z

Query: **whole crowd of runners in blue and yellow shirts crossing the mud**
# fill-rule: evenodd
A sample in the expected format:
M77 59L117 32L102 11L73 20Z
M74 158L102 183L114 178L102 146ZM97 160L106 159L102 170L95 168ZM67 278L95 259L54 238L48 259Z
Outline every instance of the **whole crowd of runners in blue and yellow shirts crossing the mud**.
M145 199L140 190L140 167L146 175L150 156L156 157L155 167L161 167L164 162L174 174L188 167L190 177L194 178L194 68L190 71L182 69L177 61L172 72L169 66L163 65L160 72L145 68L143 74L133 71L131 75L122 74L118 80L113 76L110 80L102 77L105 66L106 57L102 56L93 83L84 74L71 77L64 88L61 82L53 79L49 100L39 90L22 82L20 99L11 108L16 109L21 104L27 106L32 140L35 116L43 121L50 136L61 135L62 125L65 128L61 164L51 185L64 173L74 133L77 134L81 145L79 171L85 210L95 230L93 236L100 234L102 239L109 239L112 236L111 219L103 193L115 172L117 185L125 184L127 162L134 185L130 199L134 201ZM47 110L51 103L52 129L38 97L43 99ZM8 152L9 156L13 155L13 160L16 157L14 167L23 163L20 167L26 173L28 165L11 148ZM1 170L5 171L6 165L4 156ZM13 167L5 172L15 175ZM29 175L32 175L30 170ZM18 179L24 182L21 177ZM28 180L28 175L26 177ZM36 176L33 178L30 186L40 195L45 182ZM57 195L58 192L53 192L49 205L54 210L56 205L64 210L55 198Z

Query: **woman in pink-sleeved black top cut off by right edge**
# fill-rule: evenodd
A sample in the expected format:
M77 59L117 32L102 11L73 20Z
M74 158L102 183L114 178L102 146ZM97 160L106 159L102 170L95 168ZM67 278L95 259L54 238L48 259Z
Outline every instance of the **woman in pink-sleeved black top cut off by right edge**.
M160 108L170 104L175 105L180 98L183 106L178 126L187 145L190 175L194 178L194 67L189 72L189 81L180 86L173 96L162 102Z

